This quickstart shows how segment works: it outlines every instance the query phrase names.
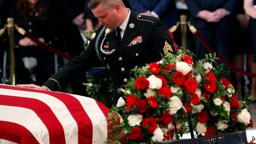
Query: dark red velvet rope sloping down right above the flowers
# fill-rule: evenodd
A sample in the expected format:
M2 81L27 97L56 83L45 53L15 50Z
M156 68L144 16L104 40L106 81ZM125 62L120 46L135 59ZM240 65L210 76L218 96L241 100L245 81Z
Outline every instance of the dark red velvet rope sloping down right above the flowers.
M202 35L199 32L194 33L194 35L199 39L199 41L204 45L204 47L211 53L214 54L216 53L212 47L209 45L209 43L207 41L205 41L205 39L202 37ZM241 68L238 68L236 66L234 66L232 63L230 63L229 61L227 61L225 58L223 58L220 54L216 53L216 56L230 69L232 69L233 71L236 71L237 73L241 74L241 75L246 75L248 77L251 78L256 78L256 74L250 73L248 71L244 71Z

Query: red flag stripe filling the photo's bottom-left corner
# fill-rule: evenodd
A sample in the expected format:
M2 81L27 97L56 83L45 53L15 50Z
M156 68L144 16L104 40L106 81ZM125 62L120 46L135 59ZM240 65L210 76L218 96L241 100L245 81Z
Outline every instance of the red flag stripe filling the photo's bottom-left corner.
M0 138L16 143L39 143L28 129L12 122L0 121Z

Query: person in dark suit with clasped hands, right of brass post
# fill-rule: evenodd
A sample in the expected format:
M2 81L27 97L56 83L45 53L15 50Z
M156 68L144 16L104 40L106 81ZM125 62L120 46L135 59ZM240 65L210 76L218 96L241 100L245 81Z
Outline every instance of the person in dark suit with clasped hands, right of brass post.
M186 0L189 18L203 38L227 60L232 46L234 10L237 0ZM196 39L196 56L201 59L209 52Z

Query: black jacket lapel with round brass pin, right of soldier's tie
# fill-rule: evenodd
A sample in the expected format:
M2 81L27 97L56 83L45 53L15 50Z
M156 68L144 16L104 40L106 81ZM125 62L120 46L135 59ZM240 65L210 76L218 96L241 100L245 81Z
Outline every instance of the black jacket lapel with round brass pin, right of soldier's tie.
M133 23L132 25L134 25L134 27L131 27L131 23ZM133 11L131 11L131 15L127 23L126 29L124 31L124 35L120 45L119 55L123 52L127 45L134 39L138 31L139 30L137 29L136 14Z

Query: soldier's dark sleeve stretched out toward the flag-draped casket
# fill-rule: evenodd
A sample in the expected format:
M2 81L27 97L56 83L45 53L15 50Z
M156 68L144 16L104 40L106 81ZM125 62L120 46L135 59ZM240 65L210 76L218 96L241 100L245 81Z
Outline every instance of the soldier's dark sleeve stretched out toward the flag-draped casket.
M60 90L75 78L86 75L86 71L100 63L95 52L95 39L92 40L85 51L76 56L72 61L63 66L54 74L44 86L53 91Z

